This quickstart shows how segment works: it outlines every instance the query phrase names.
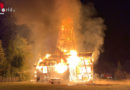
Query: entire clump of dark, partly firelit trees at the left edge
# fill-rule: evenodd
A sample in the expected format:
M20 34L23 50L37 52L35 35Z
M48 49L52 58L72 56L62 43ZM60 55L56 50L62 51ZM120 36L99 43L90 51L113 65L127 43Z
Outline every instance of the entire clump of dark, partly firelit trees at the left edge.
M11 15L0 16L0 76L28 78L32 46L29 29Z

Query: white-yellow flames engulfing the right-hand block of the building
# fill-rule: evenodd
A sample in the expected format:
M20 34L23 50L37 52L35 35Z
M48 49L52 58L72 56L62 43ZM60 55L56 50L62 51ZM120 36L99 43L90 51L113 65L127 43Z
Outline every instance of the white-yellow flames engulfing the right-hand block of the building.
M76 50L70 50L70 56L67 58L69 64L70 81L78 81L87 73L86 81L92 80L92 65L90 58L79 57ZM80 73L77 76L77 73Z

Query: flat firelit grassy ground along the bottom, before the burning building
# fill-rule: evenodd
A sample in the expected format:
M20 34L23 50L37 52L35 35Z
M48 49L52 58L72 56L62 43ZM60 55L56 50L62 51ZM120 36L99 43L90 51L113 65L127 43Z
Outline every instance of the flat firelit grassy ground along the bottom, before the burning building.
M0 90L130 90L130 81L96 81L94 84L51 85L36 82L0 82Z

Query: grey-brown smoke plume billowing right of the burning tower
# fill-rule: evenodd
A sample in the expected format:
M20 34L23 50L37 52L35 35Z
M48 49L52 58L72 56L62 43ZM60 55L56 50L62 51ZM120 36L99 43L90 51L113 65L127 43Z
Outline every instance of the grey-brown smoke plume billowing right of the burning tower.
M97 16L96 9L92 3L81 7L81 14L77 30L77 42L79 51L93 52L96 62L104 44L104 20Z

